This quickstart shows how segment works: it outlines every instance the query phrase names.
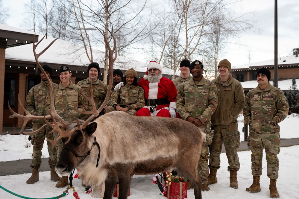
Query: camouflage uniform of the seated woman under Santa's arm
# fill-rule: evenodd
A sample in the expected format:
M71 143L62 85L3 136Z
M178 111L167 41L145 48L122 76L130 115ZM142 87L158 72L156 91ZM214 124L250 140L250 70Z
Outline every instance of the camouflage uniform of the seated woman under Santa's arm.
M112 92L106 108L106 113L115 111L115 106L119 105L122 108L128 107L128 114L135 116L137 111L145 106L144 89L139 86L125 84L119 92Z

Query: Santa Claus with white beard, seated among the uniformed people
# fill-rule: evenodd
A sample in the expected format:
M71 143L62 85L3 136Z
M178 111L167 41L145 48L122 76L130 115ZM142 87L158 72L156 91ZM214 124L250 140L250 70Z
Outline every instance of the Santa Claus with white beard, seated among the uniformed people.
M176 113L175 100L177 89L174 83L162 76L162 66L156 61L148 64L146 75L138 82L144 89L145 107L139 109L136 116L173 117ZM120 85L114 88L116 91Z

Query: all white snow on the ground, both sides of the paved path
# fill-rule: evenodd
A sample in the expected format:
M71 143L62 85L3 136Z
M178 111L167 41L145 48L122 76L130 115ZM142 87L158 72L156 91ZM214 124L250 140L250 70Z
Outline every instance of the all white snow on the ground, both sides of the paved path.
M244 138L242 133L243 116L239 116L239 131L241 133L241 140ZM292 114L280 123L280 136L283 139L298 138L299 137L299 115ZM32 146L28 141L28 136L25 135L0 135L0 161L12 161L19 159L31 159ZM282 147L278 158L280 160L279 178L277 180L277 189L282 199L299 199L299 170L294 169L299 163L299 145L291 147ZM47 146L44 145L43 157L48 157ZM265 152L263 155L263 175L261 176L261 189L259 193L246 192L246 187L252 183L251 175L251 152L239 152L239 159L241 168L238 171L239 189L232 189L229 187L229 172L227 171L227 157L225 153L221 153L221 168L217 171L218 183L210 185L211 191L202 192L202 198L209 199L252 199L270 198L269 196L269 178L267 177L267 163L265 160ZM1 169L1 168L0 168ZM75 172L76 173L76 172ZM40 181L34 184L26 184L26 180L31 176L31 173L0 176L0 185L4 188L15 192L16 194L32 198L50 198L61 195L65 188L55 188L54 182L50 181L50 171L40 172ZM128 199L163 199L165 197L159 195L160 191L157 185L152 183L152 175L133 176L130 193ZM91 194L84 192L84 187L81 187L81 180L74 179L73 185L81 199L92 198ZM194 197L193 189L187 191L187 197L192 199ZM8 192L0 189L0 198L14 199L18 198ZM64 198L73 198L72 190L70 195ZM115 198L115 197L114 197Z

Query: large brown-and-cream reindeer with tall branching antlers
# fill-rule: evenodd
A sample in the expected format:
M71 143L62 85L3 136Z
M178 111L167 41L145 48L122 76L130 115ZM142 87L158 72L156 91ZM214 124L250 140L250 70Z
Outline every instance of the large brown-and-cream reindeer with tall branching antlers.
M113 50L109 47L104 34L104 41L109 50L109 93L112 86L112 66L117 56L116 40L113 34L112 37L114 39ZM49 46L40 54L36 54L34 45L34 56L42 71L38 57ZM77 168L82 183L98 186L105 182L104 199L112 198L118 180L119 198L125 199L133 174L155 174L176 170L192 183L195 198L201 199L201 178L197 166L205 134L198 127L182 119L130 116L121 111L107 113L91 122L103 109L109 93L98 110L93 105L92 111L82 112L92 114L86 121L81 123L77 120L76 123L67 123L56 113L53 88L50 88L50 91L51 112L48 116L32 116L24 108L26 116L20 116L10 108L13 113L10 117L23 118L23 127L26 125L25 122L31 119L52 118L53 121L46 121L46 125L57 130L60 136L50 142L53 147L59 139L62 139L64 143L60 159L55 167L57 174L67 176ZM83 91L81 93L84 95ZM87 98L84 95L84 98L94 104L92 87L90 97ZM20 133L35 133L22 131L23 128Z

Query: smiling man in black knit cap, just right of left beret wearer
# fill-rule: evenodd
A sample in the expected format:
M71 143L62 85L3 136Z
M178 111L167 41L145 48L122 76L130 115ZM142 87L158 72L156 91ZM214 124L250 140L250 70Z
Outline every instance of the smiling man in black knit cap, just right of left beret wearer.
M92 90L93 90L93 99L95 101L96 109L98 109L105 100L105 97L107 95L107 85L104 84L101 80L98 79L98 72L100 71L100 67L98 63L90 63L87 68L88 78L82 81L79 81L77 83L78 86L80 86L84 94L89 97L90 95L90 82L92 82ZM86 101L88 104L87 111L92 110L92 105L89 101ZM104 114L104 110L101 111L100 115ZM80 115L80 119L86 120L91 115Z

